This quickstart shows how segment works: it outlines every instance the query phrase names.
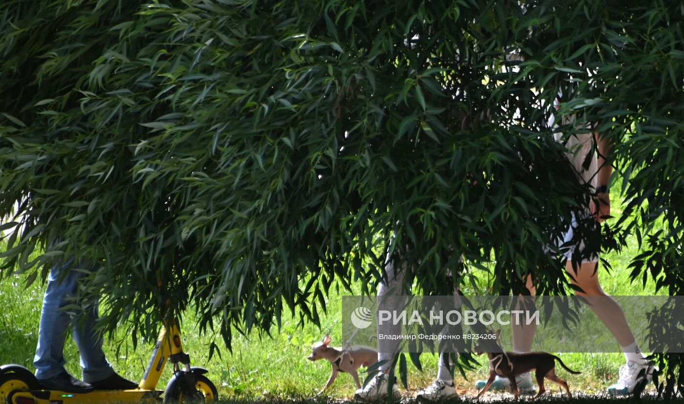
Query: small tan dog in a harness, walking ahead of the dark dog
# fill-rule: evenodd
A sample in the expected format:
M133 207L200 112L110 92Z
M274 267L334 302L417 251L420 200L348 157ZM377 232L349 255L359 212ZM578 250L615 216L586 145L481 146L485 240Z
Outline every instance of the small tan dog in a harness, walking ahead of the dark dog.
M361 388L361 382L358 380L358 368L361 366L369 367L378 363L378 351L370 347L354 346L350 349L340 350L330 347L330 334L326 334L321 342L317 342L308 356L308 360L315 361L325 359L330 362L332 366L332 375L328 379L326 387L321 390L320 394L325 392L335 379L337 375L342 373L349 373L356 381L356 388Z

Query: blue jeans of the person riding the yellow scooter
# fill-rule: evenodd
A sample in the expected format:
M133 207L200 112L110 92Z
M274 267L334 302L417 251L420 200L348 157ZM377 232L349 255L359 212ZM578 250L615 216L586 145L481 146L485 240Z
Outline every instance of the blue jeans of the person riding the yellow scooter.
M73 265L70 261L68 265ZM62 271L68 271L66 278L59 280ZM38 347L34 358L36 377L50 379L64 372L64 341L72 323L68 312L60 310L73 304L79 278L85 273L65 267L54 267L48 277L47 290L40 313L38 330ZM74 324L72 336L81 355L83 381L86 383L101 381L114 373L102 350L104 338L95 332L94 325L98 318L97 308L83 323Z

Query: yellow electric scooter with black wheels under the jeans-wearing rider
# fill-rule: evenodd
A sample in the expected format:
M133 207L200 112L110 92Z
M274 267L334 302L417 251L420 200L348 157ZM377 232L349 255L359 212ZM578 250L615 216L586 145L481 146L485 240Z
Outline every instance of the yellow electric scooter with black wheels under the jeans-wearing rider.
M38 379L19 365L0 366L0 404L70 404L70 403L188 403L218 400L216 386L206 369L190 367L190 357L183 352L181 330L176 321L162 327L150 364L135 390L93 390L69 393L43 390ZM173 364L173 376L166 390L157 390L157 383L166 361ZM181 365L183 368L181 369ZM162 398L163 394L163 398Z

